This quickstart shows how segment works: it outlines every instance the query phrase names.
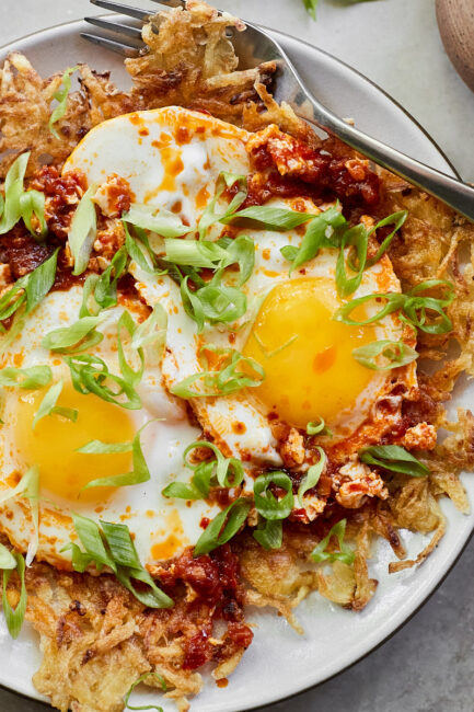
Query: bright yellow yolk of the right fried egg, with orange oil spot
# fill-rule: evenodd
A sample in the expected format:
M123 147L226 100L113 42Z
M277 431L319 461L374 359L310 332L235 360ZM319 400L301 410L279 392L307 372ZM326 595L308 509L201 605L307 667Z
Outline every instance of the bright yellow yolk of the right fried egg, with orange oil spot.
M290 279L269 292L254 322L243 354L265 379L253 392L290 425L319 417L331 425L373 378L352 349L374 341L374 329L333 321L342 305L334 280Z

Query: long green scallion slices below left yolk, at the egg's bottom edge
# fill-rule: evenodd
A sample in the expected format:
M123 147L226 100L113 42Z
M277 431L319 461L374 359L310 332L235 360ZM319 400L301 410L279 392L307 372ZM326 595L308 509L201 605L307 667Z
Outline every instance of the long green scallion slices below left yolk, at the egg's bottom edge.
M128 527L123 524L101 521L101 527L86 517L72 515L76 532L85 552L78 544L70 542L62 551L72 552L74 571L83 573L94 563L100 572L102 567L112 569L118 581L148 608L170 608L173 600L154 583L148 571L142 566ZM137 589L132 581L140 581L148 589Z

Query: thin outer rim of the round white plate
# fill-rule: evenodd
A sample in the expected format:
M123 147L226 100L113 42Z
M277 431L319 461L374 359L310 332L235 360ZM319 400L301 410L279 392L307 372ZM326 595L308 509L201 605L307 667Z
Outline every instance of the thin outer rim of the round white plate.
M97 15L97 16L112 16L115 13L103 13L103 14ZM5 43L3 45L0 45L0 61L3 61L7 51L14 50L14 45L16 43L23 43L23 42L25 42L27 39L31 39L31 38L33 38L35 36L42 35L44 33L47 33L47 32L50 32L50 31L54 31L54 30L63 30L63 28L66 28L68 26L79 25L82 22L83 22L83 19L68 20L66 22L61 22L61 23L58 23L58 24L55 24L55 25L49 25L47 27L43 27L41 30L36 30L34 32L27 33L27 34L22 35L20 37L16 37L15 39L13 39L11 42L8 42L8 43ZM245 22L245 20L244 20L244 22ZM275 30L273 27L267 27L266 25L258 25L258 26L263 27L263 30L267 31L268 33L270 33L273 35L276 35L277 38L278 37L284 37L284 38L290 39L291 42L296 42L299 45L303 45L303 46L308 47L311 51L316 51L320 55L324 55L331 61L334 61L336 65L343 66L350 73L356 74L359 79L361 79L366 83L370 84L377 92L379 92L386 100L389 100L389 102L391 104L396 106L397 110L400 110L403 114L405 114L405 116L409 119L409 122L425 136L425 138L428 139L428 141L431 143L433 149L440 154L440 157L443 159L443 161L446 162L446 164L448 165L449 170L452 172L454 177L456 177L458 180L462 180L460 173L458 172L456 168L452 163L451 159L444 153L443 149L432 138L432 136L429 134L429 131L396 99L394 99L389 92L386 92L384 89L382 89L377 82L371 80L369 77L363 74L358 69L355 69L354 67L351 67L348 62L339 59L338 57L336 57L332 53L326 51L325 49L321 49L320 47L317 47L315 45L312 45L310 42L307 42L304 39L300 39L299 37L294 37L293 35L290 35L290 34L288 34L286 32ZM425 604L427 604L428 600L437 593L437 590L444 583L444 581L447 579L449 574L452 572L454 566L460 561L460 559L461 559L462 554L464 553L466 547L473 540L473 537L474 537L474 524L473 524L473 527L471 529L471 532L466 537L466 539L465 539L464 543L462 544L460 551L458 552L455 558L452 560L452 562L450 562L447 570L442 574L441 578L436 583L436 585L426 595L426 597L418 604L418 606L416 606L416 608L396 628L394 628L381 641L379 641L379 643L377 643L375 645L370 647L370 650L366 651L365 653L362 653L361 655L356 657L351 663L345 665L344 667L342 667L336 673L334 673L332 675L328 675L324 679L321 679L317 682L314 682L313 685L309 685L308 687L304 687L301 690L298 690L298 692L292 692L292 693L290 693L288 696L285 696L285 697L278 697L278 698L276 698L276 699L274 699L274 700L271 700L269 702L265 702L264 704L247 707L245 709L248 712L263 711L263 710L268 709L269 705L277 704L279 702L285 702L285 701L288 701L290 699L293 700L296 698L299 698L302 694L304 694L304 693L307 693L307 692L309 692L311 690L315 690L316 688L324 685L325 682L336 678L338 675L342 675L343 673L350 669L351 667L354 667L355 665L357 665L358 663L363 661L366 657L368 657L369 655L374 653L377 650L382 647L388 641L390 641L392 638L394 638L396 635L396 633L398 633L398 631L401 631L418 613L418 611L425 606ZM30 696L30 694L27 694L25 692L18 691L14 688L8 687L7 685L4 685L2 682L0 682L0 690L5 690L5 691L8 691L8 692L21 698L21 699L32 700L36 704L42 705L45 710L53 709L50 703L48 703L48 702L46 702L46 701L44 701L42 699L37 699L35 697L32 697L32 696Z

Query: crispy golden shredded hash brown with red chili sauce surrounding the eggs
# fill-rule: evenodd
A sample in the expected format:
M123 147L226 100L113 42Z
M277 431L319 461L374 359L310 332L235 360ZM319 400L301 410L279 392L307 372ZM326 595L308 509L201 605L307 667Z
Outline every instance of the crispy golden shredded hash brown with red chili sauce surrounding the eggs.
M395 573L423 563L439 542L446 527L438 504L441 496L450 497L461 512L469 510L459 474L474 469L474 418L459 410L458 420L450 422L443 403L460 375L474 376L474 226L412 185L373 169L340 141L322 141L313 135L289 106L273 101L275 66L236 69L238 59L226 37L229 26L243 27L239 20L219 16L199 0L188 0L186 11L159 13L143 28L149 50L126 60L130 91L119 91L108 74L80 65L80 89L67 99L57 136L48 124L62 74L42 79L23 55L7 58L0 73L0 175L4 180L14 159L31 151L26 175L30 187L45 193L50 242L36 243L23 226L0 238L2 291L56 245L61 250L55 288L78 280L71 275L65 241L85 185L80 175L60 172L92 127L129 112L170 105L209 112L255 133L247 146L253 172L246 206L274 195L322 200L330 193L340 199L354 222L363 215L373 225L389 214L408 210L388 252L403 290L427 279L449 279L455 286L455 299L448 307L453 331L420 333L418 384L409 397L405 393L396 426L382 430L380 440L415 450L430 473L425 478L398 473L383 481L380 472L366 468L358 475L344 475L339 467L347 452L336 448L331 453L330 447L330 468L315 489L314 510L311 516L290 517L280 549L262 549L244 529L210 553L193 558L188 549L151 567L151 575L175 601L171 609L146 608L108 574L79 574L34 562L26 571L26 619L38 631L44 654L34 684L63 711L122 710L127 690L149 671L163 676L166 696L186 710L186 699L203 685L196 670L211 663L213 678L223 679L251 644L246 606L270 606L299 632L293 609L310 592L359 611L377 589L368 567L375 538L392 547L396 561L390 571ZM289 154L302 160L291 162ZM124 239L120 221L101 216L90 269L103 272ZM427 363L429 376L423 369ZM395 390L396 379L392 386ZM389 417L390 406L388 399L382 420ZM274 429L279 453L291 470L308 444L296 428L275 423ZM309 554L342 517L347 519L346 539L355 546L355 560L351 565L336 560L328 574ZM402 529L430 535L414 561L406 559ZM330 547L335 548L336 541ZM18 602L15 573L7 595L11 605ZM219 635L216 621L224 623ZM151 676L144 682L160 688Z

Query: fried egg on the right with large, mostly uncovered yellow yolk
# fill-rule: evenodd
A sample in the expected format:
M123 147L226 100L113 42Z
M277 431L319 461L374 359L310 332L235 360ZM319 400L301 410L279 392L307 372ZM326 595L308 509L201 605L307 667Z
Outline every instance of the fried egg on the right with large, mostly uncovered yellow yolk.
M301 203L298 199L300 209ZM294 209L296 202L274 199L267 205ZM319 211L310 200L304 203L304 209ZM392 376L390 371L388 375L365 368L354 359L352 349L378 340L407 338L398 319L389 315L367 326L334 321L334 313L347 301L336 289L335 250L321 250L289 276L289 263L280 249L287 244L298 246L301 230L240 232L255 243L255 268L242 287L247 312L229 329L207 325L198 334L174 282L166 275L150 278L131 265L144 300L150 306L162 303L169 314L162 365L167 389L203 370L199 349L205 343L236 348L261 364L265 379L257 388L193 400L199 422L222 451L257 467L281 464L271 427L276 420L304 429L309 422L324 418L333 430L333 446L347 440L371 420L372 437L377 437L382 426L375 424L377 404L391 392ZM365 271L351 298L400 290L390 260L384 256ZM397 378L405 379L408 391L416 384L415 368L409 365L400 370Z

